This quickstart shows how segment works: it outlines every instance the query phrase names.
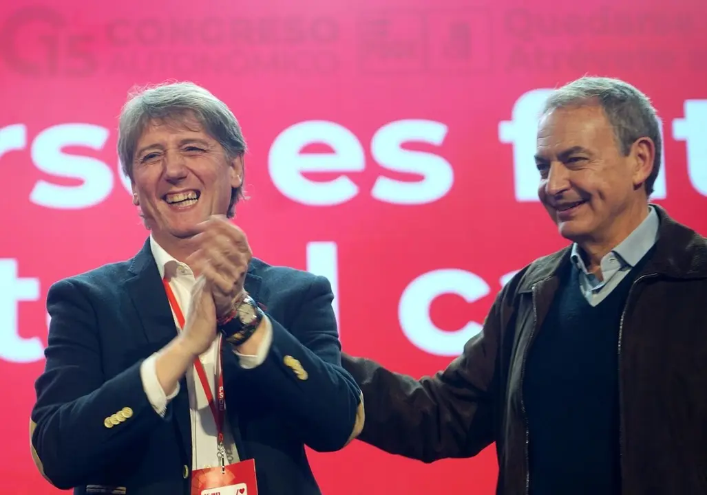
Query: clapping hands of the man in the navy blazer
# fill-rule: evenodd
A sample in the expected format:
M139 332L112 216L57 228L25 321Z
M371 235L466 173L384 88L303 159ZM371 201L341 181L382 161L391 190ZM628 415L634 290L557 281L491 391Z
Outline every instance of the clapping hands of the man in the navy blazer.
M186 262L197 276L184 337L196 356L216 338L216 320L228 316L245 297L245 275L252 252L245 232L226 217L214 215L197 225L197 246Z

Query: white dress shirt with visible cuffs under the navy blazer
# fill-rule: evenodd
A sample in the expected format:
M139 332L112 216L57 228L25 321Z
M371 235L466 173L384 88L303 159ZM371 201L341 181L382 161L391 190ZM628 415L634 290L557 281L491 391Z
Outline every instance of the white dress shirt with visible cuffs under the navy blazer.
M192 270L185 263L180 263L175 260L173 256L170 256L167 251L157 244L152 236L150 236L150 247L157 263L160 277L165 278L166 275L170 288L175 294L175 299L177 299L182 314L185 320L187 320L190 295L192 287L194 287L196 283L194 273L192 273ZM179 323L177 322L174 311L172 314L175 318L177 331L179 331ZM262 345L259 347L257 355L249 356L238 354L235 350L233 351L236 356L238 356L240 366L243 366L243 368L255 368L255 366L262 364L270 350L272 327L270 321L267 318L264 319L267 326L266 334L264 335ZM218 359L218 340L219 339L214 340L209 350L199 356L199 361L201 361L201 364L204 366L206 378L211 387L211 394L214 397L216 396L216 390L214 388L216 381L216 364L220 361L220 359ZM228 346L230 344L224 342L223 345ZM175 398L177 393L179 393L180 385L177 383L176 390L170 395L165 395L165 391L162 389L157 379L155 366L157 355L158 353L152 354L145 359L140 368L140 376L145 393L152 407L160 416L164 417L167 405L170 400ZM189 416L192 419L192 470L216 467L219 465L218 451L216 449L216 421L211 412L209 401L206 400L199 375L196 373L193 365L187 371L186 379L187 390L189 392ZM223 418L223 444L226 448L229 463L238 462L238 451L235 448L233 434L231 434L230 427L228 426L228 415Z

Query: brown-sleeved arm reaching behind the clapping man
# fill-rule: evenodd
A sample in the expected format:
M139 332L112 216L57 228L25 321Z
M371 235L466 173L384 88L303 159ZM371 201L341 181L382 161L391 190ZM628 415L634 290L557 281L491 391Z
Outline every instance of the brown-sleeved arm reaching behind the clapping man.
M483 332L434 376L416 380L370 359L343 354L344 368L366 398L366 422L358 439L426 463L471 457L492 443L501 331L497 304Z

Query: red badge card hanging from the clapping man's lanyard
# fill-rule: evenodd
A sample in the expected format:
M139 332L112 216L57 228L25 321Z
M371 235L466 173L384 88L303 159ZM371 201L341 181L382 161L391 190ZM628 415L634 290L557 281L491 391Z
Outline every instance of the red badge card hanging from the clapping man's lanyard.
M193 471L192 495L258 495L255 460Z

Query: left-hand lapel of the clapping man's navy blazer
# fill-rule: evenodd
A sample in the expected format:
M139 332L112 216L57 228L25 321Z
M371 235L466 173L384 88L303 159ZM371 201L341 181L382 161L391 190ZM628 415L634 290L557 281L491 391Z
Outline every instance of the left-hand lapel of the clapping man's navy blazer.
M133 276L127 280L126 289L142 322L145 337L153 348L161 349L177 336L177 327L157 263L152 256L149 238L133 258L129 271ZM180 392L172 400L172 412L182 439L182 448L191 465L192 421L189 417L189 392L184 377L180 380Z

